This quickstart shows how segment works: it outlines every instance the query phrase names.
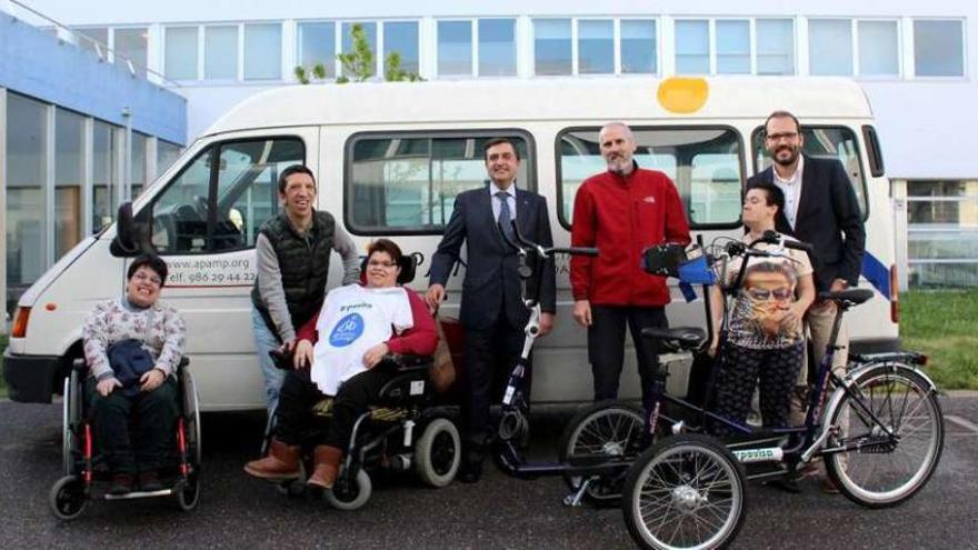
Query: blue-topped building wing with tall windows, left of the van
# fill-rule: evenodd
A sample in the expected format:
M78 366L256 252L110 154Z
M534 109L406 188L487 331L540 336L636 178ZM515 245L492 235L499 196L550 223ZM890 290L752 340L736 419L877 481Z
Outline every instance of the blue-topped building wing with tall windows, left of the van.
M0 12L0 296L9 313L172 161L186 143L187 109L128 63L107 63L50 22L8 13Z

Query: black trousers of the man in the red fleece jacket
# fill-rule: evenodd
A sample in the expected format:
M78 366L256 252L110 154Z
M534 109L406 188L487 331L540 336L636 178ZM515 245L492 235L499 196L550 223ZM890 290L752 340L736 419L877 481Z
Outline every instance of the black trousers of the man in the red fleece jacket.
M618 382L625 362L625 327L631 331L638 374L641 380L642 406L650 406L650 393L659 368L658 344L641 337L647 327L669 326L663 308L631 306L591 306L588 328L588 359L595 377L595 401L618 399Z

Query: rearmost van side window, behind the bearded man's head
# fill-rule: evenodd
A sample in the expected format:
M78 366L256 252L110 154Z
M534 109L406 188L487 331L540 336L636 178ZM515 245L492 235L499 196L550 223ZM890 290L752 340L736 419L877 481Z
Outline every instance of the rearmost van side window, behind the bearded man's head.
M805 144L801 150L809 157L821 159L836 159L842 163L852 190L856 191L856 200L862 211L862 220L869 216L869 206L866 202L866 179L862 176L862 162L859 157L859 142L856 132L846 127L802 126L801 136ZM759 172L771 166L771 156L764 147L764 127L754 130L750 139L754 146L754 166Z

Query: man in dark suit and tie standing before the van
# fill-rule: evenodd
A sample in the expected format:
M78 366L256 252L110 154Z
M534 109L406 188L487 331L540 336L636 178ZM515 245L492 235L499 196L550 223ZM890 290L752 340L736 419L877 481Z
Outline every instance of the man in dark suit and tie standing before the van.
M485 147L488 186L459 193L438 251L431 259L426 300L436 308L445 299L449 272L459 260L462 242L467 247L466 278L462 282L460 321L465 328L466 401L462 403L465 454L460 479L478 481L492 430L489 406L493 377L508 376L523 346L523 328L529 311L520 299L517 256L499 233L498 223L510 228L516 220L520 234L545 247L552 246L547 200L518 189L519 151L508 139L493 139ZM555 270L549 261L540 289L540 336L553 324L556 311ZM529 399L530 374L526 394Z

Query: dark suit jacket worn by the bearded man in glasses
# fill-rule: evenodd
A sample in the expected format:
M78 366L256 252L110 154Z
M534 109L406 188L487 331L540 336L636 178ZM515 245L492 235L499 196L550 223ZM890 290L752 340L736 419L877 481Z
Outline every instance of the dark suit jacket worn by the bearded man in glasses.
M774 168L751 176L747 188L758 181L772 183ZM784 212L778 212L775 223L778 232L808 242L815 249L812 267L819 291L828 290L835 279L845 279L850 287L859 282L866 229L841 162L806 156L795 228L791 229Z

